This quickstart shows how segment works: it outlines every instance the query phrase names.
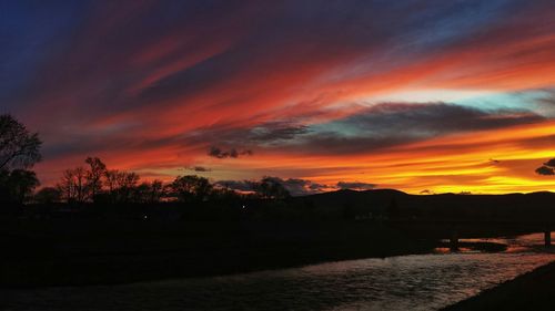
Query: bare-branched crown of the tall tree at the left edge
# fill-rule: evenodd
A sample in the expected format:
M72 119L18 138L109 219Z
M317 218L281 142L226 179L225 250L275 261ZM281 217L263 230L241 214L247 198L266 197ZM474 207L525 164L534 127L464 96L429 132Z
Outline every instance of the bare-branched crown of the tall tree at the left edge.
M9 114L0 115L0 170L31 167L41 159L40 146L38 133L29 133Z

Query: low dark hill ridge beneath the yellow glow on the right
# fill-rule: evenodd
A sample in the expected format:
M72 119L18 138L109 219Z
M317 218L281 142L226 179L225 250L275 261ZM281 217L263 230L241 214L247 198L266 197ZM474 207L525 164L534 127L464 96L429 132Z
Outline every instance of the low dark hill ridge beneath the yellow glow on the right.
M555 219L555 194L410 195L395 189L339 190L291 198L286 209L310 217L337 219L387 217L394 206L404 218L427 219ZM309 217L309 216L307 216Z

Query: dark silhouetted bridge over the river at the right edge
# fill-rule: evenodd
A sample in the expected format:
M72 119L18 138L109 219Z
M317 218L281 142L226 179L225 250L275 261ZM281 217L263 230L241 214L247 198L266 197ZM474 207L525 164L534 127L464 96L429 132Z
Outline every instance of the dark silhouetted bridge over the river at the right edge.
M393 228L413 237L450 239L452 249L458 248L462 238L494 238L524 234L544 234L544 245L552 245L551 232L555 220L455 220L455 219L392 219Z

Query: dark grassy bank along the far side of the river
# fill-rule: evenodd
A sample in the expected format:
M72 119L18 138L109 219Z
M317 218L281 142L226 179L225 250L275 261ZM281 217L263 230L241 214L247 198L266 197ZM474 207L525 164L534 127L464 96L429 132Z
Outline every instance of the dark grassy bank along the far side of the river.
M1 287L127 283L427 252L372 221L2 224Z

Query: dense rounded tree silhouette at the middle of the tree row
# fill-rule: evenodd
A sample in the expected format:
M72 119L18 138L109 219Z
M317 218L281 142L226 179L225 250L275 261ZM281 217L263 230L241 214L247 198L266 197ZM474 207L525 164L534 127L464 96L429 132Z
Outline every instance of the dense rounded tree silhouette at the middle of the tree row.
M210 182L196 175L178 176L170 185L180 201L202 201L212 190Z

